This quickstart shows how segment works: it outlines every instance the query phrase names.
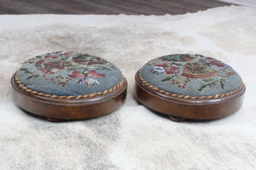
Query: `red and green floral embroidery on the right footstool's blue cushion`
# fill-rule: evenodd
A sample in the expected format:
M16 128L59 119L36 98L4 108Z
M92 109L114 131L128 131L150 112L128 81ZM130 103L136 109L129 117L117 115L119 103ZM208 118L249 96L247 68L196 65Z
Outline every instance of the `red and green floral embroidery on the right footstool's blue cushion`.
M148 65L153 65L153 68L149 70L152 74L166 73L167 76L161 82L172 81L172 84L176 84L178 88L186 88L190 79L202 79L204 83L198 88L199 91L207 87L212 88L218 82L220 88L224 88L225 77L236 74L218 59L199 54L195 54L195 56L189 54L167 55L149 61Z

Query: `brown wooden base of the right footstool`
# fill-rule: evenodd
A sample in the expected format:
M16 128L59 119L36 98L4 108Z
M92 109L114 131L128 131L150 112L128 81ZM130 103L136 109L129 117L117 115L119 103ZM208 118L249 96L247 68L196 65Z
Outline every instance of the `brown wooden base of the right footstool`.
M179 99L144 86L136 74L136 97L148 108L169 115L172 121L212 120L229 116L241 108L245 86L236 94L217 99Z

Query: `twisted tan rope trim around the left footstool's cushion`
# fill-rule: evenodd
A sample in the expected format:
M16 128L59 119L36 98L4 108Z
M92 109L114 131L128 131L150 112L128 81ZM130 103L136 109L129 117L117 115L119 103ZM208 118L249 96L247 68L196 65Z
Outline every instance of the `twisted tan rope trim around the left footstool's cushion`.
M85 99L85 98L92 98L95 97L96 95L105 95L108 93L113 92L116 88L119 88L124 82L125 82L125 77L122 75L121 81L115 85L113 88L109 88L108 90L105 90L103 92L98 92L96 94L85 94L85 95L78 95L78 96L61 96L61 95L51 95L51 94L44 94L38 91L34 91L32 89L26 88L21 82L20 79L17 77L17 72L15 73L15 82L22 88L26 93L29 94L36 94L39 96L44 96L46 98L51 98L51 99Z

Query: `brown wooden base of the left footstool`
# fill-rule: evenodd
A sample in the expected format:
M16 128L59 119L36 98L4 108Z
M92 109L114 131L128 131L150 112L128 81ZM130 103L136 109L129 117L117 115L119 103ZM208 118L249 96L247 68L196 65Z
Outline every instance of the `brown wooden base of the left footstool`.
M38 116L45 116L50 122L79 120L106 115L123 105L126 97L127 81L112 92L86 99L50 99L28 94L12 77L12 94L16 105Z

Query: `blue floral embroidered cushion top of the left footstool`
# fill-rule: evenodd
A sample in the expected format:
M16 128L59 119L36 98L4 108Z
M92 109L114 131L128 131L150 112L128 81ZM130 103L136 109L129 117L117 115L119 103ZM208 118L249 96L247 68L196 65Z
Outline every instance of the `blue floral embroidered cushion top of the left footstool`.
M53 52L21 65L17 77L26 88L44 94L77 96L113 88L122 73L112 63L89 54Z

